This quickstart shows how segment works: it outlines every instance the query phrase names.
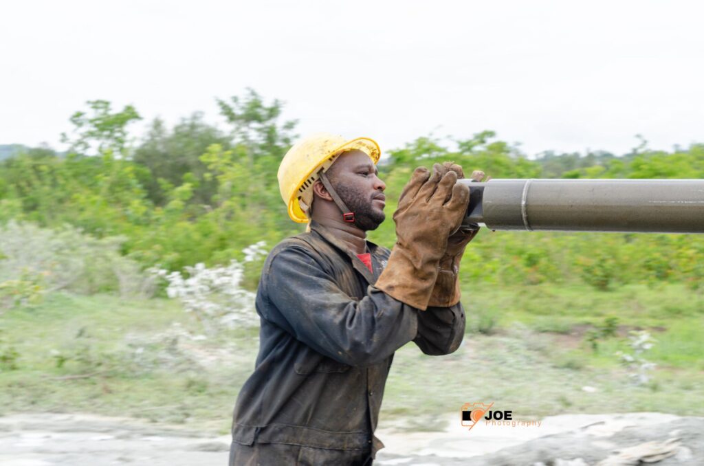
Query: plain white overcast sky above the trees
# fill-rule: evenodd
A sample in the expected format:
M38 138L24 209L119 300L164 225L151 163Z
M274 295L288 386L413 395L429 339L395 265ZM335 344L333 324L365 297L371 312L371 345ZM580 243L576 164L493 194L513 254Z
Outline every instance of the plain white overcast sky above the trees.
M702 18L696 0L3 1L0 144L62 149L89 99L215 122L249 86L299 134L382 150L485 129L530 154L671 149L704 141Z

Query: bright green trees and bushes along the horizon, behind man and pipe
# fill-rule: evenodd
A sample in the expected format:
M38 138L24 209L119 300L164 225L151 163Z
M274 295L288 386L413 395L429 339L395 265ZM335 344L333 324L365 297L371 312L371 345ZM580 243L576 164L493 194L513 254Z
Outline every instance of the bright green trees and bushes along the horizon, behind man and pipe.
M153 120L135 141L130 129L142 118L136 108L87 102L70 116L67 153L25 148L0 161L0 222L68 224L98 239L118 237L122 255L167 270L226 264L250 244L271 247L301 232L287 216L276 177L297 136L296 121L282 119L281 101L251 89L216 103L224 127L193 113L171 127ZM546 151L531 159L491 131L418 137L386 151L379 163L389 220L370 234L372 241L394 244L391 213L403 185L418 165L444 160L494 178L704 177L704 144L652 151L640 138L627 154ZM704 241L694 235L482 232L462 267L467 286L681 282L701 289L702 258Z

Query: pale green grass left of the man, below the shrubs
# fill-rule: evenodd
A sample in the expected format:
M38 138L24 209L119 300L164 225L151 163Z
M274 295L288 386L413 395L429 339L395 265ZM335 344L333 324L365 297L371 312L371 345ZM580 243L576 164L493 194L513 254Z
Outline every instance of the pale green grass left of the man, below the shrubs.
M225 429L251 372L256 330L200 340L175 301L51 294L12 310L0 327L0 405L13 411L84 411ZM4 363L3 363L4 364Z

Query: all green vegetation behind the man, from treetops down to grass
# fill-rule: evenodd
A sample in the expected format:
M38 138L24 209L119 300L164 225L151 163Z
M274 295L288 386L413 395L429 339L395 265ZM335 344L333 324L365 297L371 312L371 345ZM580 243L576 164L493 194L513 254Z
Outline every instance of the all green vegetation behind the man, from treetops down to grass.
M164 299L150 267L243 265L256 289L258 241L300 232L276 171L294 139L282 103L256 92L218 100L221 129L199 113L151 122L134 142L132 106L90 101L70 118L70 151L13 146L0 160L0 408L84 410L189 422L227 432L251 372L256 329L203 323ZM501 177L704 177L704 144L615 156L543 153L531 160L480 132L420 137L386 151L389 220L370 234L394 243L395 202L417 165L454 160ZM702 415L704 238L668 234L481 232L462 263L467 338L445 358L398 351L385 417L437 427L471 401L516 417L657 410ZM155 293L161 298L146 298ZM119 294L119 296L118 296ZM658 366L635 385L617 352L631 330ZM584 389L588 387L588 389ZM428 394L432 393L432 396ZM417 427L416 426L416 427Z

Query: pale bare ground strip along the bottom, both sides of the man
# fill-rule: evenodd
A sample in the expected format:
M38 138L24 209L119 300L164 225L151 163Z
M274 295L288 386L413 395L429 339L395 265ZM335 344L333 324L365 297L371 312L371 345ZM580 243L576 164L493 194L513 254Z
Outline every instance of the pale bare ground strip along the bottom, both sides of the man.
M458 415L444 432L383 426L386 448L375 465L657 465L704 464L704 417L660 413L560 415L540 424L477 424ZM226 465L228 436L134 419L84 414L0 417L0 465ZM648 456L649 455L649 456ZM662 459L660 459L662 457Z

